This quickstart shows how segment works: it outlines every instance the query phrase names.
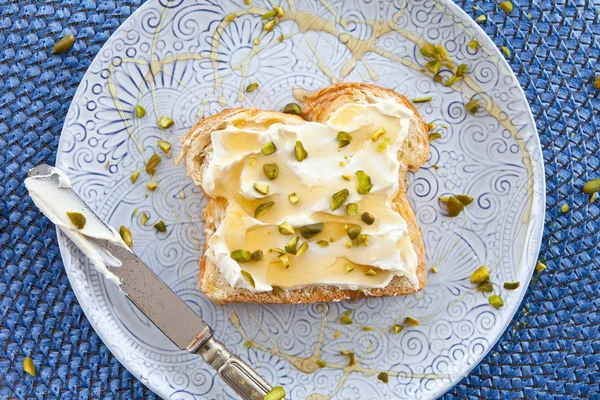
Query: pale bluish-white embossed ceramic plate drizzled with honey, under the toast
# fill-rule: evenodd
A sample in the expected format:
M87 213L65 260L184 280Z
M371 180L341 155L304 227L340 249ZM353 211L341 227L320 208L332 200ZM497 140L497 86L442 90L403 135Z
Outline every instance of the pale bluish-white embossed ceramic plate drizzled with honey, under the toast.
M131 229L135 253L198 310L217 337L269 381L285 386L290 398L440 395L469 373L507 327L539 251L544 173L520 86L483 31L447 0L282 1L286 21L267 35L260 14L275 4L252 3L257 8L242 0L144 4L85 74L65 122L57 164L101 217ZM224 22L230 13L237 17ZM254 38L260 45L253 45ZM472 39L482 47L468 48ZM453 88L434 83L423 72L421 40L442 43L456 65L468 66L467 78ZM335 80L374 82L408 98L432 96L417 108L443 136L433 142L429 163L410 174L409 197L428 268L435 266L438 273L429 273L429 285L416 296L215 306L196 285L204 241L200 190L172 159L159 165L159 189L148 197L147 177L142 173L132 184L131 174L143 171L158 139L173 143L177 154L179 136L202 116L224 107L279 109L294 100L294 92ZM246 94L251 82L259 83L259 90ZM469 114L464 104L473 97L487 110ZM132 114L136 104L148 111L142 119ZM159 130L161 115L172 117L175 126ZM449 218L438 202L449 193L467 193L475 201ZM142 212L150 217L146 226L140 223ZM159 219L167 233L152 227ZM176 349L71 243L61 237L60 246L86 315L136 377L165 398L233 397L199 357ZM499 310L469 283L482 264L492 270L494 291L504 299ZM506 281L521 286L507 291ZM339 323L346 310L353 312L352 326ZM253 347L244 346L248 339L231 323L233 313ZM393 321L406 316L420 326L391 333ZM374 330L363 331L365 325ZM345 367L341 348L356 353L356 366ZM319 358L329 366L316 368ZM377 379L381 371L388 372L389 383Z

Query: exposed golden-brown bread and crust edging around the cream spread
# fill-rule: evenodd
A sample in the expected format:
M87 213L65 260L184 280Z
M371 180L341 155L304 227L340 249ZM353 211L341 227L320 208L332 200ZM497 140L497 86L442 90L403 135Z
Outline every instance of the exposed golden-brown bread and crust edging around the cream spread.
M345 104L369 104L379 99L392 99L410 108L414 115L410 120L408 136L398 152L400 171L398 175L399 190L393 200L392 208L406 221L408 233L413 244L418 264L417 279L419 287L415 287L408 278L395 276L384 288L363 291L341 290L337 286L314 285L299 289L284 290L275 295L273 292L255 293L243 288L233 288L221 274L219 267L207 258L208 241L225 218L226 204L223 200L211 198L202 188L202 177L208 162L207 155L212 151L211 133L226 128L229 124L240 121L269 120L270 123L281 122L300 125L304 120L322 122ZM182 152L177 162L184 161L188 175L198 184L207 199L208 205L203 211L205 227L205 245L200 260L199 287L212 301L224 303L315 303L355 299L357 297L397 296L415 293L425 287L426 260L425 249L415 215L406 197L406 172L416 171L429 156L429 140L426 124L417 110L404 96L390 89L363 83L337 83L322 90L309 93L302 104L302 118L274 111L258 109L226 109L222 112L199 121L192 127L187 136L182 138Z

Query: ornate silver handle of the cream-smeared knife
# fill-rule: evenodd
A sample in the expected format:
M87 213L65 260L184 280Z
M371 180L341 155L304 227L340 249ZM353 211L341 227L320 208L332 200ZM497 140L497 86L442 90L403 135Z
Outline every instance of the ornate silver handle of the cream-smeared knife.
M244 400L263 400L271 385L214 337L196 351L221 379Z

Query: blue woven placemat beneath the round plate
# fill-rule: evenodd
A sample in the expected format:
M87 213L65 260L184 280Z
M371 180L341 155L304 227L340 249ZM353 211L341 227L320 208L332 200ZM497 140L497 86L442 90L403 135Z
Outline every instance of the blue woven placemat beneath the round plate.
M240 0L241 1L241 0ZM600 391L600 233L581 193L600 176L600 3L457 1L482 26L525 90L540 132L546 227L534 278L511 328L447 398L589 398ZM61 126L83 74L139 1L0 0L0 398L156 398L108 351L77 304L54 227L22 184L54 164ZM476 6L476 7L474 7ZM76 44L53 55L56 40ZM562 213L568 203L570 211ZM36 366L23 372L24 357Z

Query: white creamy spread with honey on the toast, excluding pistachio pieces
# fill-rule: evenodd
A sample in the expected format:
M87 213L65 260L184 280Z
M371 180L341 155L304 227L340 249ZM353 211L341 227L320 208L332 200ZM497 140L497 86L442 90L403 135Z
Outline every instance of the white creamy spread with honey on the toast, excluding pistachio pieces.
M202 186L211 197L227 200L227 210L208 242L208 259L232 287L253 292L309 285L368 290L387 286L395 276L405 276L418 288L417 255L406 221L392 207L399 190L398 151L412 116L408 107L384 99L346 104L326 123L286 124L261 120L258 114L253 121L213 131ZM385 134L373 140L373 133L382 128ZM339 132L350 134L352 141L340 147ZM302 161L294 152L298 141L308 153ZM265 156L261 149L270 142L277 150ZM279 174L270 180L263 166L273 163ZM356 171L370 177L368 194L358 193ZM268 185L268 194L259 193L255 184ZM344 189L349 191L347 200L331 211L332 195ZM299 198L296 204L288 199L292 193ZM255 218L255 209L266 202L274 205ZM348 203L358 205L357 215L348 214ZM361 220L364 212L375 217L372 225ZM284 249L294 237L279 232L278 225L284 222L295 228L298 246L308 243L306 252L288 255L287 267L273 250ZM302 237L302 226L319 222L324 223L319 234ZM348 226L360 227L368 244L349 239ZM264 254L260 261L238 262L231 256L235 250L259 249ZM354 269L348 272L347 265ZM254 286L242 271L252 276Z

